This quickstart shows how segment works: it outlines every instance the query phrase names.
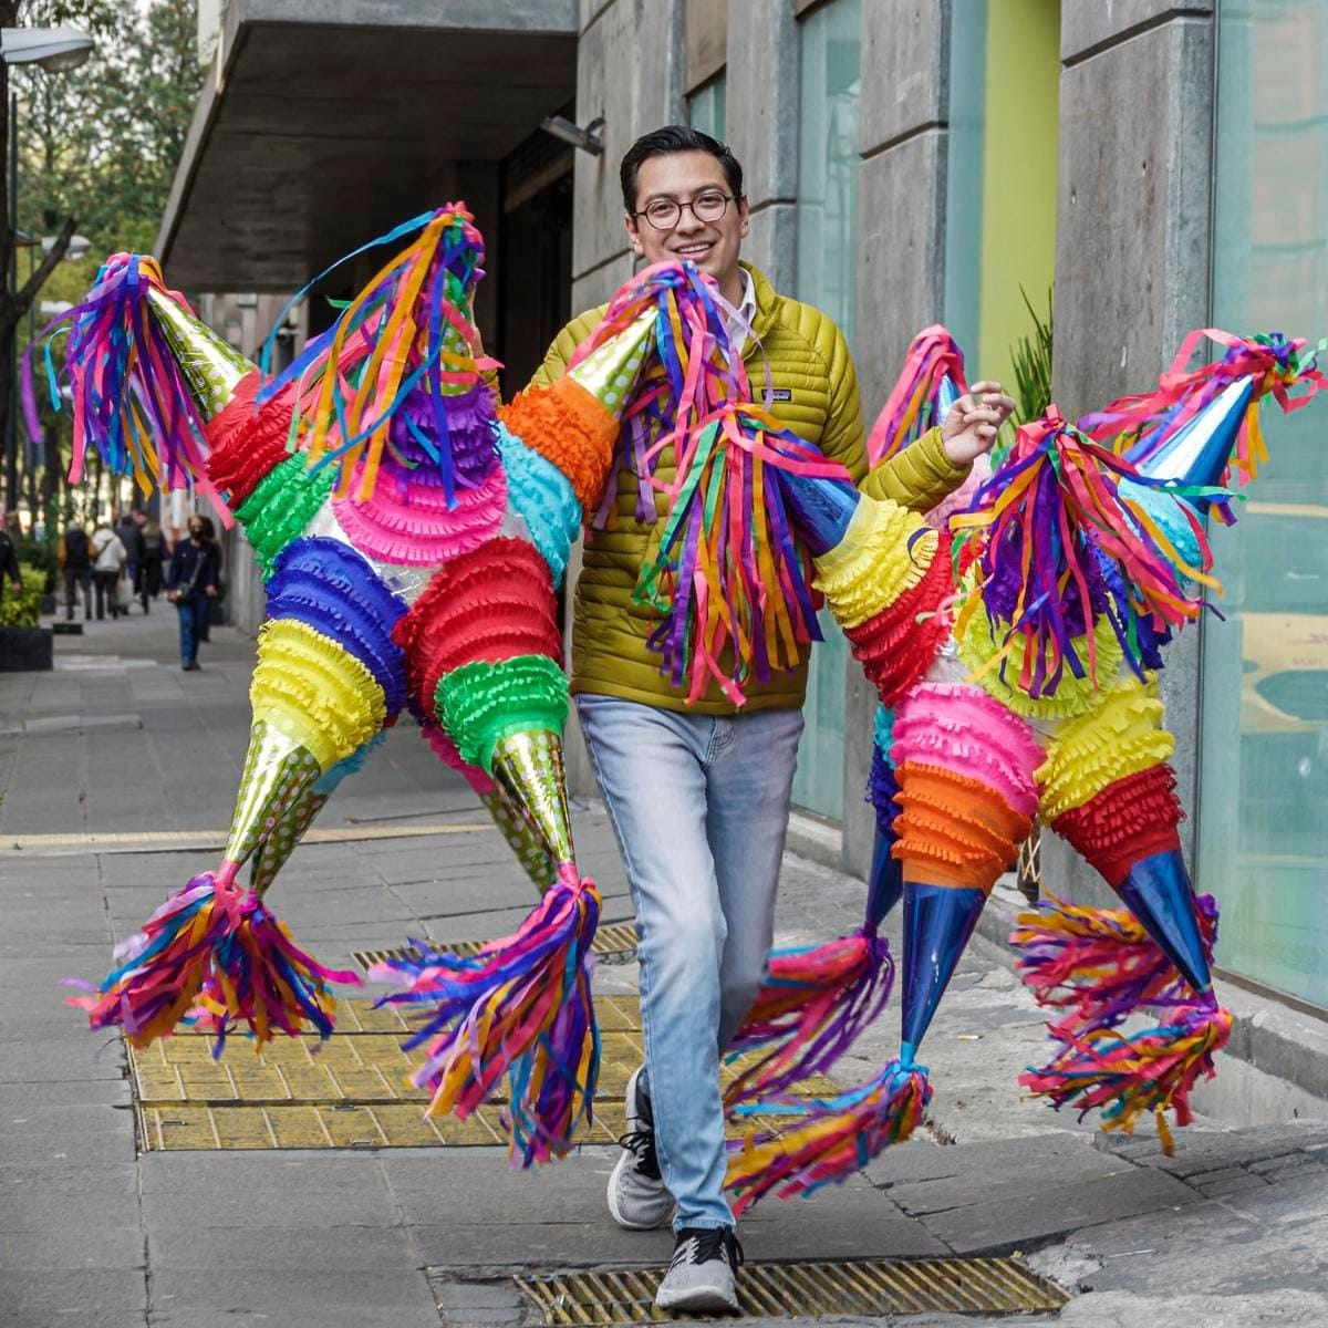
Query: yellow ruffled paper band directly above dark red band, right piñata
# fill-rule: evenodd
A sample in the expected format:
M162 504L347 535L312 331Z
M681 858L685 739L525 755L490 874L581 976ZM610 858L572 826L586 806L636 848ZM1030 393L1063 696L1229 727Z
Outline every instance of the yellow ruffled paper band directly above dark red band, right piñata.
M1154 675L1125 677L1088 714L1070 720L1048 744L1037 770L1044 821L1097 797L1109 784L1169 760L1175 738L1162 728Z

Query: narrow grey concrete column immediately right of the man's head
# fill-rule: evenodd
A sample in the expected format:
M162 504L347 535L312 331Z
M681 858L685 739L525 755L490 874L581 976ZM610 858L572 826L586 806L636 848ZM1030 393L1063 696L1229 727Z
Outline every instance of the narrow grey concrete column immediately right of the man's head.
M798 29L789 0L729 0L729 146L742 162L752 231L742 256L778 291L797 268Z

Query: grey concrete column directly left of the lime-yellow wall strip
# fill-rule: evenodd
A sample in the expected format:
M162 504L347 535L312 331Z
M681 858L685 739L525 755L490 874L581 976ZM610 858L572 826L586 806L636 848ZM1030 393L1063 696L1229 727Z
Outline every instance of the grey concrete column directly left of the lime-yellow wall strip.
M944 304L950 23L950 0L863 0L855 359L869 429L908 343ZM875 819L862 789L876 696L851 657L845 687L842 862L865 876Z

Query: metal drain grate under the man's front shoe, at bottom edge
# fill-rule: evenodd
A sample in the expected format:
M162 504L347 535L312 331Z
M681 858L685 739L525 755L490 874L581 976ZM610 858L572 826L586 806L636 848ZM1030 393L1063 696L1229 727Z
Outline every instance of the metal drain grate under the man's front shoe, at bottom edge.
M539 1274L517 1287L558 1324L669 1323L655 1308L663 1268ZM865 1259L825 1263L746 1264L738 1275L746 1319L814 1319L826 1315L1016 1315L1060 1309L1069 1295L1016 1259ZM729 1316L722 1316L732 1321Z

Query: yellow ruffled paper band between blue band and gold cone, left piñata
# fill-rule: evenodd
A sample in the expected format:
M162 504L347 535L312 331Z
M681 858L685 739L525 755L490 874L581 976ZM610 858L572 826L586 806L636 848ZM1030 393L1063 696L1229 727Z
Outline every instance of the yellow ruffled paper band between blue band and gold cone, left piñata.
M295 738L325 773L368 742L386 718L382 688L341 645L280 618L258 637L250 684L254 717Z

